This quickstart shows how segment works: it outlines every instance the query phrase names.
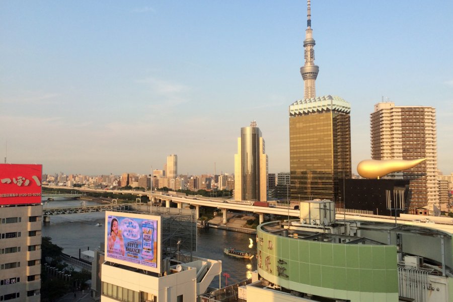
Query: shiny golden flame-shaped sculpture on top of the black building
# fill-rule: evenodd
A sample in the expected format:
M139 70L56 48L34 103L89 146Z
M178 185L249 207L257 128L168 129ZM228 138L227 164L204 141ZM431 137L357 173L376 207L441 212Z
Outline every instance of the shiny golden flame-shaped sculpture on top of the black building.
M357 165L357 172L363 178L381 178L392 172L411 169L426 159L418 160L364 160Z

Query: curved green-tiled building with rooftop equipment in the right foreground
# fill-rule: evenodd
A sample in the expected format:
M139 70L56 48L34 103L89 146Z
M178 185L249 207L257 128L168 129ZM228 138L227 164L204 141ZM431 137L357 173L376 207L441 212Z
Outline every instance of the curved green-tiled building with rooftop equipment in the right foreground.
M289 225L258 225L256 242L258 269L247 286L248 302L269 294L275 301L453 300L448 232L412 222L301 217Z

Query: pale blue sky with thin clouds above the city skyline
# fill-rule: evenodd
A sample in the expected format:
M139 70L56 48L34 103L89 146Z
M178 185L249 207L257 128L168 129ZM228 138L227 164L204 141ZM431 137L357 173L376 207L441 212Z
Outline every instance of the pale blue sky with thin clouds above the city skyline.
M303 98L306 1L0 1L0 156L46 173L234 172L256 120L269 172L289 171L288 106ZM317 96L351 104L352 170L369 114L437 110L453 172L453 1L312 1Z

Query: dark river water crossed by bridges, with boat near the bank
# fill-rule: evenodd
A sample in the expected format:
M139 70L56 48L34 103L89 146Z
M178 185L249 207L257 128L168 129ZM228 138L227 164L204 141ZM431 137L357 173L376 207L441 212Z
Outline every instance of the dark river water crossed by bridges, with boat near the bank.
M44 202L44 201L43 201ZM93 201L54 200L44 202L43 208L96 205ZM102 226L96 226L102 223ZM104 242L105 212L62 214L50 216L50 223L43 223L42 236L52 238L52 243L63 248L63 253L79 257L79 249L95 250ZM219 229L197 230L197 251L194 256L222 261L222 274L228 273L228 283L232 284L251 277L256 270L256 257L251 260L239 259L223 253L224 248L256 253L255 235ZM218 280L217 280L218 282ZM224 277L221 278L225 285ZM214 285L214 284L213 284ZM216 283L214 286L218 286Z

